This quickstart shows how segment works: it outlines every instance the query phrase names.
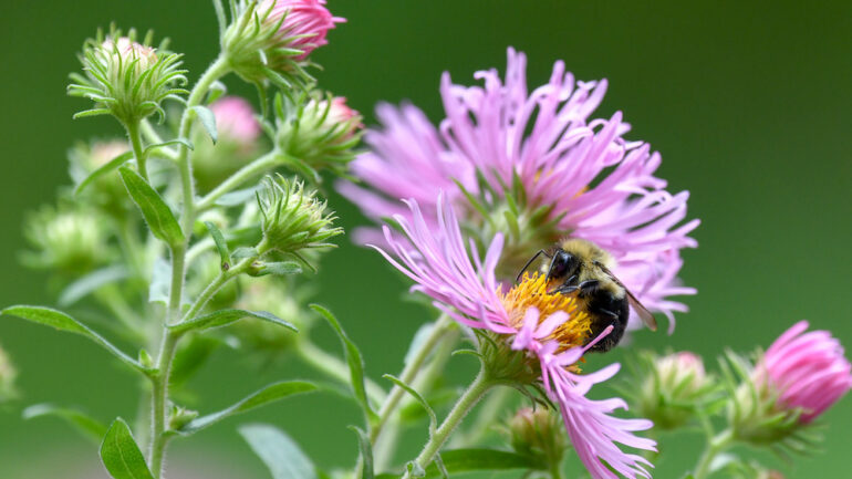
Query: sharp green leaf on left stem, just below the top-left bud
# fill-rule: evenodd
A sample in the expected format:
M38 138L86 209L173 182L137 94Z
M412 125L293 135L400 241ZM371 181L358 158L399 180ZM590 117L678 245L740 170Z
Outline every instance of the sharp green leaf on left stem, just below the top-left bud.
M183 244L185 238L180 225L157 190L152 188L138 173L126 166L118 168L118 173L122 175L127 192L145 217L150 232L172 247Z

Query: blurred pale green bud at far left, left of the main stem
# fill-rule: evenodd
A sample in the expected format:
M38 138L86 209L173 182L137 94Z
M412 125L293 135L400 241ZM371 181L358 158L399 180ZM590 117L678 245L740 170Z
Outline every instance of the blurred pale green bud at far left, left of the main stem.
M104 218L94 210L43 207L27 219L24 236L35 249L22 257L32 268L75 277L112 257Z

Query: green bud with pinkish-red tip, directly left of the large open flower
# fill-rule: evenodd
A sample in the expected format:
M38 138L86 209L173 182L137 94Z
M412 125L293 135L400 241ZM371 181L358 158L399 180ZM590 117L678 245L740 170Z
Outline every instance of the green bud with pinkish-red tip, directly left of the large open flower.
M361 114L346 105L346 98L303 97L295 107L285 107L281 96L277 100L276 145L290 166L313 176L323 168L345 171L363 129Z

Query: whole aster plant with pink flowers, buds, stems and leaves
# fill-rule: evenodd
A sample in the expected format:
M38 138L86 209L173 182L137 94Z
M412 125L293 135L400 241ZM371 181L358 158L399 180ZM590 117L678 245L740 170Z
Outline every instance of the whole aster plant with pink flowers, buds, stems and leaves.
M707 439L687 477L777 478L738 446L790 454L819 440L813 424L852 375L839 342L804 322L765 353L725 353L718 372L689 352L635 353L626 374L609 355L586 363L623 329L602 324L591 293L563 288L552 265L530 261L537 253L552 257L569 240L605 251L613 284L635 295L633 310L641 302L667 317L669 334L687 311L675 296L696 293L677 278L682 250L697 246L688 192L669 192L656 176L661 155L628 137L621 112L594 116L605 80L579 81L558 62L528 88L526 56L509 49L503 76L482 71L474 86L441 76L440 122L381 104L382 125L364 133L361 115L310 73L312 52L344 21L324 0L214 7L220 52L195 83L153 34L112 27L83 46L69 93L90 103L75 116L113 116L126 137L75 145L71 187L28 219L21 259L51 272L55 305L2 313L85 336L144 381L138 409L118 417L34 404L25 418L76 426L116 479L168 478L173 439L306 393L359 405L349 425L357 457L332 468L277 426L239 427L276 479L562 479L569 461L582 477L652 478L669 430ZM229 95L236 80L257 97ZM346 319L313 302L331 294L313 272L344 233L325 197L330 178L373 221L354 241L402 273L436 317L385 381L365 373L371 352L347 336ZM641 313L615 316L636 330ZM322 323L342 354L313 342ZM282 379L206 412L188 379L225 347L263 364L297 358L320 379ZM459 354L478 373L448 387ZM4 408L22 397L12 360L0 350ZM412 427L423 445L407 456L396 446Z

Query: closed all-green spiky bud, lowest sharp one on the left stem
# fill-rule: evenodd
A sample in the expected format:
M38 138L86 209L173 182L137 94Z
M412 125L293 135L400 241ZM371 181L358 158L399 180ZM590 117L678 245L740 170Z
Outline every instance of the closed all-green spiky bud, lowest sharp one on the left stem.
M268 176L258 194L258 207L263 231L263 247L258 248L261 253L274 250L309 264L301 250L334 248L328 241L343 233L342 228L333 226L336 217L326 210L326 202L297 179Z

